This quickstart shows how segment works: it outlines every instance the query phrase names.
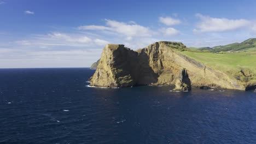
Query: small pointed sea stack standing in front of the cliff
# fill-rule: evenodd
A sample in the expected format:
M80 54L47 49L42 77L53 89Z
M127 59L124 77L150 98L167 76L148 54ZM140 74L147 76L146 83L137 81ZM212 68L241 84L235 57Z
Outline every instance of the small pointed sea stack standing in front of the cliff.
M191 91L191 81L186 69L182 69L179 72L173 91Z

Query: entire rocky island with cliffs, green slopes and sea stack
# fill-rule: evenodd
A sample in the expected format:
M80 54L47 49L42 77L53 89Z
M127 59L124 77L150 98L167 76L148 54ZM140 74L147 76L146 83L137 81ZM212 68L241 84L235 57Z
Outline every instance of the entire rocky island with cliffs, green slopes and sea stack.
M158 41L131 50L107 44L89 79L95 87L141 85L239 89L256 88L256 39L216 47L187 47L182 43Z

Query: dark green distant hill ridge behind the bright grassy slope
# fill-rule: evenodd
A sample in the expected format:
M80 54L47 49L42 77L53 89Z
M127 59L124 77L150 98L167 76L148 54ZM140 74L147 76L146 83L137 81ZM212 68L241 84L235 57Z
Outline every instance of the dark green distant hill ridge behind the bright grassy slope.
M198 49L191 49L192 51L208 51L208 52L240 52L249 49L254 49L256 47L256 38L247 39L242 43L233 43L228 45L220 45L214 47L200 47Z

